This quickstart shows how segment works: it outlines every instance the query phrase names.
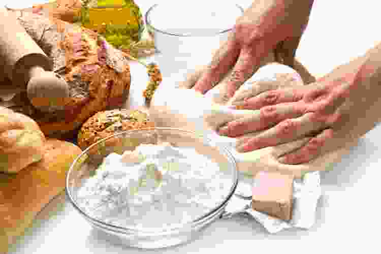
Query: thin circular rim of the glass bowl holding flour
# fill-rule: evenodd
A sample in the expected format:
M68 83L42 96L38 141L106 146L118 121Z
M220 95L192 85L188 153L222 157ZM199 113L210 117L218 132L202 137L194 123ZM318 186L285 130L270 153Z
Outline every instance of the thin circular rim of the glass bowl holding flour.
M239 172L238 172L237 163L236 163L236 160L235 160L233 154L225 146L218 145L217 146L218 149L221 149L224 151L224 157L227 157L227 160L232 165L232 169L233 169L232 171L234 174L233 179L232 179L233 184L230 188L229 194L226 196L226 198L219 205L217 205L215 208L211 209L208 213L198 217L197 219L195 219L193 221L190 221L190 222L185 223L185 224L176 224L175 226L172 226L172 227L170 226L170 227L157 228L157 230L153 230L153 231L152 230L145 230L145 229L140 230L137 228L127 228L127 227L120 227L120 226L111 225L111 224L108 224L105 221L102 221L100 219L93 218L90 215L88 215L85 211L83 211L79 207L79 205L77 204L75 199L73 198L73 195L72 195L72 193L70 191L70 187L69 187L70 186L69 185L69 176L73 172L73 170L74 170L75 166L77 165L77 162L80 160L80 158L82 158L83 155L87 154L88 150L90 150L91 148L93 148L95 146L100 145L101 143L104 143L108 139L112 139L112 138L115 138L117 136L122 136L122 135L130 134L130 133L154 131L154 130L175 131L175 132L187 133L187 134L193 135L193 137L195 137L195 138L202 139L204 142L206 141L208 144L212 144L212 145L214 144L214 142L211 139L207 138L205 135L201 135L201 134L198 134L198 133L193 132L193 131L188 131L188 130L183 130L183 129L178 129L178 128L151 127L151 128L143 128L143 129L136 129L136 130L128 130L128 131L119 132L119 133L113 134L107 138L101 139L101 140L97 141L96 143L90 145L84 151L82 151L82 153L80 155L78 155L75 158L75 160L73 161L73 163L70 165L70 168L67 171L66 177L65 177L66 178L66 180L65 180L65 193L66 193L66 196L69 198L69 201L73 205L73 207L80 214L82 214L82 216L84 216L87 220L91 221L91 223L96 224L98 226L106 227L107 229L113 230L116 232L126 233L126 231L128 231L128 232L135 233L135 234L139 233L139 235L142 235L142 233L143 233L143 234L148 235L148 236L150 236L150 235L157 236L160 234L168 234L168 232L173 233L174 231L182 231L184 228L187 228L187 227L194 228L194 227L197 227L199 225L203 225L203 224L205 224L206 221L209 221L209 219L211 217L215 217L216 213L218 211L221 211L222 209L224 209L225 206L227 205L227 203L230 201L230 199L234 195L235 190L236 190L237 185L238 185Z

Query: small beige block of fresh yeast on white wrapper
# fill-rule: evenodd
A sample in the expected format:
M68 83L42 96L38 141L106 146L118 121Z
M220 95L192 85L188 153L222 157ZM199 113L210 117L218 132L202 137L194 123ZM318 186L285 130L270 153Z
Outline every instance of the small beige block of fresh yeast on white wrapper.
M293 208L294 177L279 172L260 171L252 186L252 209L290 220Z

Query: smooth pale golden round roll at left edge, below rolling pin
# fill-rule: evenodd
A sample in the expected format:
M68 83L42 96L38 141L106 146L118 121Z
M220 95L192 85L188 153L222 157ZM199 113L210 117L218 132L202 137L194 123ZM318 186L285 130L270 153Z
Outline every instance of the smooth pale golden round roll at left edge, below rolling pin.
M31 118L0 107L0 172L17 173L39 162L45 136Z

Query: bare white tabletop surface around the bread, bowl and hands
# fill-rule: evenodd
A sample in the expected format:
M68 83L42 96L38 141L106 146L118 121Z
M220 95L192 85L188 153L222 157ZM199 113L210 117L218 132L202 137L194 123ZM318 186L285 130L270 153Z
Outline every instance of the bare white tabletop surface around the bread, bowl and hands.
M18 0L33 3L33 0ZM135 1L145 12L160 2ZM244 8L250 1L240 0ZM377 8L378 7L378 8ZM374 0L315 1L310 24L297 52L298 58L316 76L364 53L381 35L379 10ZM374 33L374 31L376 31ZM132 64L131 104L140 101L146 74ZM142 75L136 74L141 72ZM139 75L142 76L139 78ZM315 226L308 230L287 230L268 234L255 221L236 218L218 220L198 239L162 250L162 253L233 253L237 251L275 253L376 253L378 229L378 187L381 179L381 126L361 139L334 170L322 173L323 197L317 208ZM364 248L367 248L364 249ZM374 248L374 250L372 250ZM37 217L34 226L12 246L11 253L144 253L113 243L112 239L91 229L87 222L65 202L65 196L53 200Z

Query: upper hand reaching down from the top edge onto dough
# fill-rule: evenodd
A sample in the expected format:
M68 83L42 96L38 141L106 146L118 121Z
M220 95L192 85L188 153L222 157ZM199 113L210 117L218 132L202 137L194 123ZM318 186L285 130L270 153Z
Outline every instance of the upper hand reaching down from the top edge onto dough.
M283 63L293 66L312 3L254 1L237 19L230 39L216 51L209 65L192 76L197 80L193 88L205 94L224 79L224 100L228 101L273 50L276 59L282 58Z

